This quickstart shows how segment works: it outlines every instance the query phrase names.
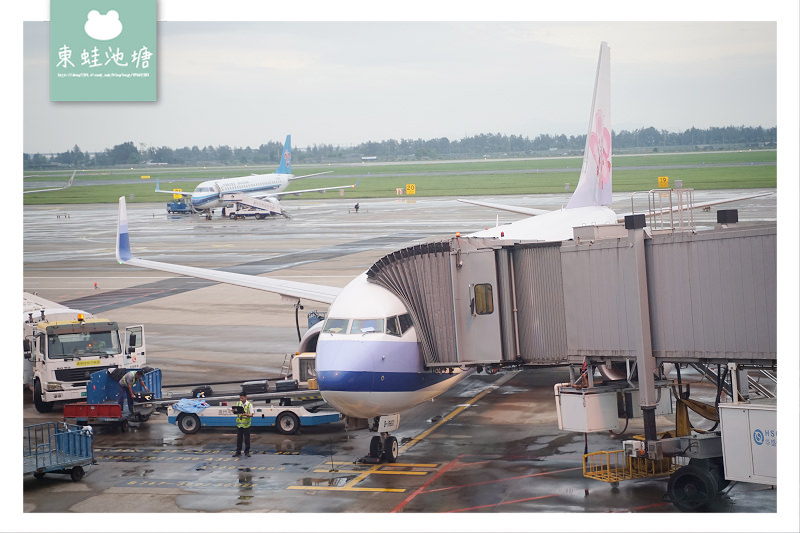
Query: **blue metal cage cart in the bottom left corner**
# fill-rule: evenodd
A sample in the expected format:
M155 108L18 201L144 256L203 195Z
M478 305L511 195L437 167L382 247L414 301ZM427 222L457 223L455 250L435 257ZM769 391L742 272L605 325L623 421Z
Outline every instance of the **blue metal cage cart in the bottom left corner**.
M91 428L45 422L23 428L23 474L41 479L47 473L67 474L80 481L93 462Z

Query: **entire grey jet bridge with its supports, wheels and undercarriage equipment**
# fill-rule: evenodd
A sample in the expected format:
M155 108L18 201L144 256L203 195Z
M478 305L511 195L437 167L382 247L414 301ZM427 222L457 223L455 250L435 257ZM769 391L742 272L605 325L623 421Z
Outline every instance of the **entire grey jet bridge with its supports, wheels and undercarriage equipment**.
M651 210L685 202L679 192L651 191ZM636 214L577 227L563 242L456 236L393 252L367 277L406 303L428 367L568 365L570 381L555 391L564 430L622 434L626 420L644 422L641 440L587 456L599 465L590 477L669 475L675 505L699 510L745 477L729 464L751 462L747 479L767 484L775 464L753 452L763 444L741 444L759 437L732 413L775 393L777 224L717 215L698 228L681 216L651 216L648 227ZM713 385L710 402L690 397L686 369ZM689 411L713 428L695 428ZM659 432L656 416L668 412L676 427ZM766 441L772 430L759 429ZM727 431L740 446L723 447Z

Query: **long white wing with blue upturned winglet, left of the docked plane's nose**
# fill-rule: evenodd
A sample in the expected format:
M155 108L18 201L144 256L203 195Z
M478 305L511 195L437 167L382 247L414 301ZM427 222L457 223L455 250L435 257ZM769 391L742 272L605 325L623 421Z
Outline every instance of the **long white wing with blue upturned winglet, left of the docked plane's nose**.
M197 268L172 263L162 263L150 261L133 256L131 252L130 235L128 234L128 214L125 208L125 197L119 199L119 220L117 222L117 261L120 264L133 265L151 270L161 270L181 274L193 278L208 279L220 283L229 283L240 287L258 289L262 291L280 294L291 299L306 299L314 302L331 303L339 294L339 287L328 287L326 285L315 285L298 281L285 281L275 278L262 276L251 276L247 274L235 274L223 270L212 270L207 268Z

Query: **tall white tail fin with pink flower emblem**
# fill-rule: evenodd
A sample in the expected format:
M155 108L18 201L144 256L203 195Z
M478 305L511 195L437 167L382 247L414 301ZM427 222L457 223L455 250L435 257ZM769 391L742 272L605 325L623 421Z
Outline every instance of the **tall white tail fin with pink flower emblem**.
M567 209L611 205L611 50L600 43L583 167Z

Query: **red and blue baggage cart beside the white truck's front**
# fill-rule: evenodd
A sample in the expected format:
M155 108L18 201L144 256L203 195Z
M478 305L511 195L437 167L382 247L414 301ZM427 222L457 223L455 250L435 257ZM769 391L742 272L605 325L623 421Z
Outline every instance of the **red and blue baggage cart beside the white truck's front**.
M123 369L137 370L137 369ZM95 372L87 386L87 401L64 406L64 421L73 424L115 425L126 431L131 425L149 420L161 403L161 370L147 369L142 377L148 391L137 381L133 386L133 413L123 411L119 404L122 391L112 369ZM125 401L127 406L127 400Z

